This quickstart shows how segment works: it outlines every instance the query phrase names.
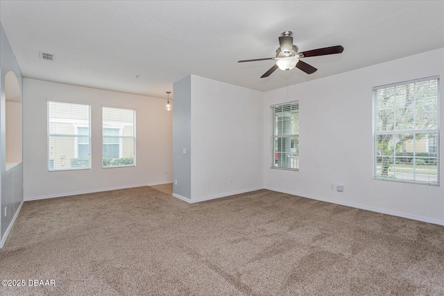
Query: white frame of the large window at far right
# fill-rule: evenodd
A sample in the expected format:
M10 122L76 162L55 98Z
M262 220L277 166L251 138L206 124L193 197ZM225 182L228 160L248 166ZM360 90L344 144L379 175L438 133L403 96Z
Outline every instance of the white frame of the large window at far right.
M436 128L430 128L430 129L425 129L425 130L420 130L420 129L411 129L411 130L389 130L389 131L377 131L377 106L376 106L376 91L378 89L387 89L387 88L391 88L391 87L397 87L400 85L410 85L410 84L414 84L417 82L424 82L424 81L431 81L431 80L436 80L436 85L437 85L437 92L436 92L436 114L437 114L437 123L436 123ZM398 83L393 83L390 85L381 85L379 87L373 87L373 179L374 180L384 180L384 181L392 181L392 182L404 182L404 183L413 183L413 184L426 184L426 185L432 185L432 186L439 186L440 184L440 175L439 175L439 171L440 171L440 156L439 156L439 139L440 139L440 79L439 76L431 76L431 77L426 77L426 78L419 78L419 79L415 79L415 80L408 80L408 81L404 81L404 82L398 82ZM416 101L415 101L416 102ZM416 114L417 110L416 110L416 103L413 104L413 106L415 107L414 109L414 113ZM396 120L396 119L394 119ZM413 120L416 120L416 115L414 117ZM408 180L408 179L394 179L392 177L383 177L383 176L378 176L377 175L377 137L379 135L384 135L384 134L391 134L393 137L396 137L396 135L402 135L402 134L426 134L425 135L425 139L426 139L426 149L428 152L428 139L427 139L427 134L436 134L436 182L432 182L432 181L421 181L421 180L416 180L416 159L420 159L420 158L424 158L424 157L418 157L416 156L416 140L413 139L413 157L411 157L413 159L413 178L415 180ZM395 142L395 140L393 140ZM393 142L393 143L394 143ZM395 150L393 157L396 159L396 152ZM379 156L381 157L381 156ZM391 155L387 155L387 157L391 157ZM428 158L428 157L427 157ZM434 158L434 157L432 157ZM396 164L396 161L394 162ZM419 173L418 173L419 174Z

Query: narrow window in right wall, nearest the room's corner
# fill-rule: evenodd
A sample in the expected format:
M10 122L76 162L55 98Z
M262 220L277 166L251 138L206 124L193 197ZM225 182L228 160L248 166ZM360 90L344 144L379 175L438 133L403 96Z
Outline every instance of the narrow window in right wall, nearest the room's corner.
M299 168L299 102L271 106L272 168Z

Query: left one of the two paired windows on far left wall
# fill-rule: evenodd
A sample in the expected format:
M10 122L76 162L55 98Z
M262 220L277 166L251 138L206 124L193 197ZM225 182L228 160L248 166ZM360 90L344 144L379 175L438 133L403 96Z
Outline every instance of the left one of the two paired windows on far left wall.
M90 106L48 101L48 171L91 168Z

